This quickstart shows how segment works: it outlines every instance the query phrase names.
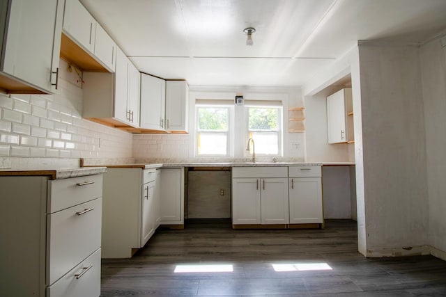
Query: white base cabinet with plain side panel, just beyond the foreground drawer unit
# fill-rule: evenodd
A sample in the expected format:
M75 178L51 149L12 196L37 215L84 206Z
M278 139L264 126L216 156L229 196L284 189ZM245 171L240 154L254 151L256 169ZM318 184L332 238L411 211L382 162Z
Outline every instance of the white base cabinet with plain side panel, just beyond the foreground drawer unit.
M102 203L102 258L130 258L159 226L156 170L107 168Z

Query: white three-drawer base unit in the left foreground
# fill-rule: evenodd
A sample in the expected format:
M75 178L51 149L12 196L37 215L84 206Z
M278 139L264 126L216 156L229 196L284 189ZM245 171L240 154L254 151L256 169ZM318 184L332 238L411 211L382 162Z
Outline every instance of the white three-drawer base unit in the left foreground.
M0 172L2 296L100 295L104 171Z

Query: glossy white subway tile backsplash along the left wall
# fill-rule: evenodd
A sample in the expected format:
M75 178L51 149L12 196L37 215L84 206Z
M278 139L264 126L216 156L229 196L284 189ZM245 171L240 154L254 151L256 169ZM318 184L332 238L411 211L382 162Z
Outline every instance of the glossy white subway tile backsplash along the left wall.
M0 94L0 167L132 156L132 134L82 119L82 88L62 60L59 75L56 95Z

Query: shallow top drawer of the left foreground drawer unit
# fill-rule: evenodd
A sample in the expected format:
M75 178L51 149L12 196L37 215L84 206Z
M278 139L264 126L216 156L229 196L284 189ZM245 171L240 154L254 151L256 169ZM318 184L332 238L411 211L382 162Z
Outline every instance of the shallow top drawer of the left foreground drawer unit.
M88 175L48 182L49 214L102 197L102 175Z

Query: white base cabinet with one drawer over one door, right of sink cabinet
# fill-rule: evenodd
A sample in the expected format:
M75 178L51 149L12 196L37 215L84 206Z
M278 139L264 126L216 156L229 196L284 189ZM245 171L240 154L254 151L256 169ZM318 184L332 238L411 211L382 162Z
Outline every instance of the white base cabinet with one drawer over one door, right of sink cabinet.
M323 223L321 166L289 167L290 224Z

